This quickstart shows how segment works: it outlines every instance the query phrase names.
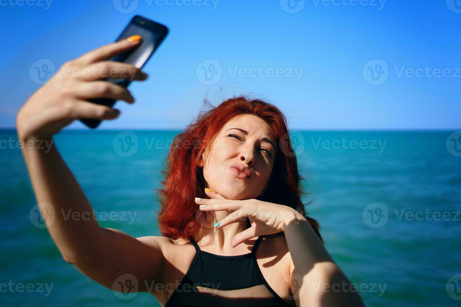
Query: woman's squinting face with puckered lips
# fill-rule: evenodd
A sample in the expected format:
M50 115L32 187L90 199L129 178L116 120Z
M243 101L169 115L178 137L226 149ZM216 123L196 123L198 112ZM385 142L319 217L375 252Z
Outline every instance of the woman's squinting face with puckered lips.
M236 129L238 128L238 129ZM272 142L272 144L271 144ZM269 125L261 118L243 114L232 118L219 131L211 151L202 155L205 187L228 199L252 199L262 194L275 160L277 143ZM232 164L239 164L236 171ZM242 175L247 168L250 177ZM246 178L245 178L246 177Z

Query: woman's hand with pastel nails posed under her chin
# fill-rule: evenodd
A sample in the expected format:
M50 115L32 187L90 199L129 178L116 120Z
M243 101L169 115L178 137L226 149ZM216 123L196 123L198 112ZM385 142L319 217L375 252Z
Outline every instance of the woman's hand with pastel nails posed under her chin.
M251 227L238 233L232 239L232 247L257 236L271 235L284 231L284 226L290 222L306 220L295 209L278 205L272 202L257 199L231 200L216 192L205 193L210 199L195 198L195 203L200 205L201 211L227 211L230 214L215 224L215 228L225 227L227 224L240 220L250 219ZM201 201L200 201L201 200Z

